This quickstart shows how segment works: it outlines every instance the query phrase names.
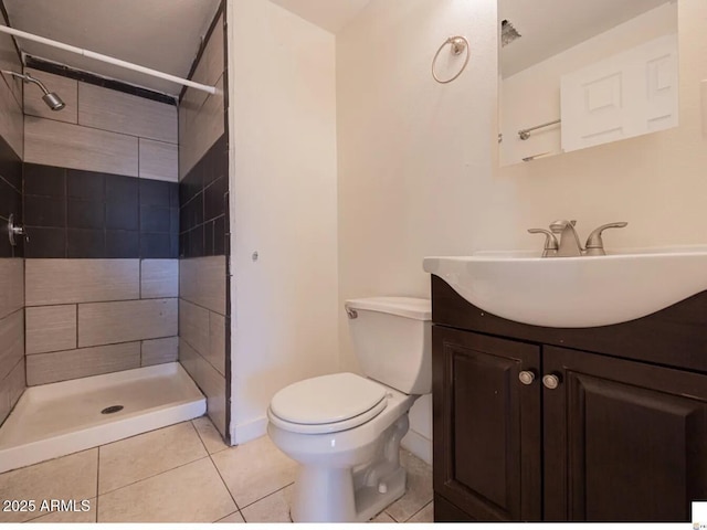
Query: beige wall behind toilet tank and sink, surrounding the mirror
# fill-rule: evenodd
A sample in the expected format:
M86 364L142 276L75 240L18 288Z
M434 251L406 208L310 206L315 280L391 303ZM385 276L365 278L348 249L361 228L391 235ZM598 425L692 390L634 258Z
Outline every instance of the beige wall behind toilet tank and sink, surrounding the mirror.
M339 300L429 296L424 256L539 250L526 229L555 219L577 219L582 236L629 221L612 246L707 241L706 19L705 2L679 0L677 129L498 170L496 1L373 0L337 35ZM431 59L452 34L471 40L472 60L439 85ZM339 321L341 364L356 369ZM422 401L411 415L422 438L430 414Z

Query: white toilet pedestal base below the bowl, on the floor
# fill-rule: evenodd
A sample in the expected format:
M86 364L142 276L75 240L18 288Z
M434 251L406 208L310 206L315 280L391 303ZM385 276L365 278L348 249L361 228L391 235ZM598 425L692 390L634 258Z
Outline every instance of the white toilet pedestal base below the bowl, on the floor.
M355 468L300 464L295 478L294 522L365 522L405 492L400 466L400 441L408 432L408 414L379 439L376 457Z

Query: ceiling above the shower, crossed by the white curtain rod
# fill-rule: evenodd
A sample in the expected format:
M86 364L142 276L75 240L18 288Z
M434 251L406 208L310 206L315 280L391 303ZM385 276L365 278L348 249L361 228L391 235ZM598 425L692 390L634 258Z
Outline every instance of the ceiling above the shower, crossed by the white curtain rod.
M17 30L187 77L220 0L2 0ZM20 50L170 95L181 86L18 39Z

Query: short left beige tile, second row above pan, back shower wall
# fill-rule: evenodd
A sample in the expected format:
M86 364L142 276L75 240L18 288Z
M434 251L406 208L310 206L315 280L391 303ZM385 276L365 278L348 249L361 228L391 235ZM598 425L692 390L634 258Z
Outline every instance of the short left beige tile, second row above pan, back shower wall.
M76 348L76 306L28 307L27 353Z

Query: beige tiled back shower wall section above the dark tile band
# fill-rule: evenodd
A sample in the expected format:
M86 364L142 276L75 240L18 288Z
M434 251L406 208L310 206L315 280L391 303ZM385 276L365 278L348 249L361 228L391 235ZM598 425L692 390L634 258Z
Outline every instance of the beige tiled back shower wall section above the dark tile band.
M56 92L66 107L53 112L39 89L27 89L25 162L177 181L177 107L46 72L27 72Z

